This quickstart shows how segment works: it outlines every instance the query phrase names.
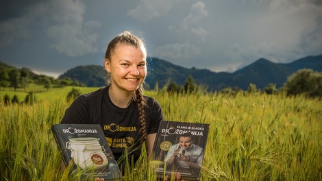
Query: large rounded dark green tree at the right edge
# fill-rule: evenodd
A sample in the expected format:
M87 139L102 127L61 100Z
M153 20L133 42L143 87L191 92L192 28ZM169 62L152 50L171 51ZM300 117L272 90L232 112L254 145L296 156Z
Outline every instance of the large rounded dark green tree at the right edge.
M287 95L306 94L322 97L322 73L312 69L301 69L290 75L283 86Z

